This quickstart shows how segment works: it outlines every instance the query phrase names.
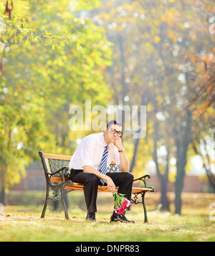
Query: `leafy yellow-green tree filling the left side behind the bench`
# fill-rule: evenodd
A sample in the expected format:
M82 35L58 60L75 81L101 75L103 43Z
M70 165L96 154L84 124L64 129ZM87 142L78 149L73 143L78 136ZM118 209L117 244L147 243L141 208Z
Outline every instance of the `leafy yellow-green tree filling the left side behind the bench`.
M100 1L80 4L46 1L35 9L34 4L19 1L10 15L1 16L3 203L5 189L19 182L39 150L72 153L70 104L83 104L87 98L105 104L102 98L109 97L102 70L110 65L110 44L102 28L78 16L82 7L92 9ZM5 8L1 4L1 13Z

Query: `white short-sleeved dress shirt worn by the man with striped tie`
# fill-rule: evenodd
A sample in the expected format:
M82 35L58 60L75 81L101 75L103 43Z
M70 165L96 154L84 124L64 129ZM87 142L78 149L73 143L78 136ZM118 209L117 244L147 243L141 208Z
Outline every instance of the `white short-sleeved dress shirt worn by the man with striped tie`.
M117 166L120 166L118 148L113 143L107 145L104 133L93 133L83 138L79 146L77 146L75 153L70 159L70 170L83 170L83 166L92 166L97 171L100 171L105 146L108 146L107 168L111 161L114 161Z

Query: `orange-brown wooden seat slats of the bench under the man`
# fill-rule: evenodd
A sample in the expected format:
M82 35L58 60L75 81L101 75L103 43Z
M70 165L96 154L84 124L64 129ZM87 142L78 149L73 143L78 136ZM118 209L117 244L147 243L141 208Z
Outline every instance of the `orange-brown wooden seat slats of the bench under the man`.
M65 181L67 181L68 178L65 178ZM50 178L50 181L51 182L62 182L63 179L62 177L51 177ZM80 184L80 183L73 183L74 185L73 186L65 186L65 189L69 189L69 190L83 190L83 187L84 185L83 184ZM98 186L98 189L97 191L102 191L102 192L110 192L109 189L107 189L105 186ZM118 187L115 189L115 191L117 192L118 191ZM138 194L138 193L141 193L143 191L153 191L153 189L151 188L138 188L138 187L133 187L132 188L132 193L133 194Z

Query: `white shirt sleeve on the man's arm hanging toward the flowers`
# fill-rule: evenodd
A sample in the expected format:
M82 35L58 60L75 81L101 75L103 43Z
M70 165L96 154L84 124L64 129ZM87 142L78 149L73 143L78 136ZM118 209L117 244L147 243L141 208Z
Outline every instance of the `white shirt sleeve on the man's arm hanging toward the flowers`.
M82 146L80 148L80 158L83 166L93 167L93 141L90 138L85 138L82 141Z

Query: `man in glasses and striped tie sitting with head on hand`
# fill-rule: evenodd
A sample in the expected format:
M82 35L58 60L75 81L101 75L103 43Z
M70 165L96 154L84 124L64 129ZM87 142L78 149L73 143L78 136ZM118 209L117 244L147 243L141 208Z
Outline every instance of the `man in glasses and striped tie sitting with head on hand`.
M122 125L117 120L111 120L104 133L93 133L83 138L72 155L69 179L84 184L87 220L96 221L97 186L106 185L105 181L110 191L115 191L115 186L118 186L118 193L125 194L130 200L133 174L128 172L130 163L122 145L122 135ZM111 161L115 161L122 172L106 173ZM133 221L129 221L124 214L113 211L110 222Z

